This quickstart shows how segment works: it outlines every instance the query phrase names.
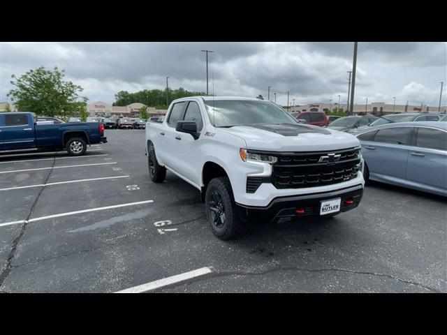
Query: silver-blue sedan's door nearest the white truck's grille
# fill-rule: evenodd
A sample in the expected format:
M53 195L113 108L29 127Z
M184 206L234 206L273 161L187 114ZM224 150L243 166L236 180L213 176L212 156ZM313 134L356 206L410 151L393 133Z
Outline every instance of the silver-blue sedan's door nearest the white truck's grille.
M362 145L369 174L379 179L406 178L406 163L411 140L411 127L383 128L374 139Z

